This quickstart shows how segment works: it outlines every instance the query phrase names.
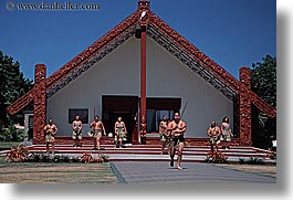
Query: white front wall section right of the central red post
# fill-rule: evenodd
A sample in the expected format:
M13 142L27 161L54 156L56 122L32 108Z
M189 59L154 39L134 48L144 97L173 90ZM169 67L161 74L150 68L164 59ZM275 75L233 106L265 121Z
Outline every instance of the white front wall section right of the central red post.
M224 115L233 124L233 102L151 39L147 40L147 96L179 96L181 108L188 101L182 116L188 137L206 137L211 120L220 125Z

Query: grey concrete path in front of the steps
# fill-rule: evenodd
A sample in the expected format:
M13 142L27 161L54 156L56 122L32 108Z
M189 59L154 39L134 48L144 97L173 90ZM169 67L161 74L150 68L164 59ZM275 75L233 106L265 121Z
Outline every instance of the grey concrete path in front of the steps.
M121 183L276 183L273 177L205 162L182 162L182 170L171 168L168 161L113 161L111 166Z

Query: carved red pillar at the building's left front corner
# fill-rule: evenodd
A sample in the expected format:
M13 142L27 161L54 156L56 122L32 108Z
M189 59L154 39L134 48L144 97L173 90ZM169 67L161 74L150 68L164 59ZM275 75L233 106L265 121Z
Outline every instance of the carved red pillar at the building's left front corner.
M36 64L34 71L33 96L33 144L44 143L43 127L45 125L45 65Z

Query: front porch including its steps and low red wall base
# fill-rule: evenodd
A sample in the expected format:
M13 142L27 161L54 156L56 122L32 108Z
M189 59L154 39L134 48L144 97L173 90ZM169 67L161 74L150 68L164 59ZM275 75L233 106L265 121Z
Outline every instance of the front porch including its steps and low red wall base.
M147 145L132 145L124 144L123 148L116 148L113 144L113 138L104 137L102 139L101 150L93 150L92 138L83 138L82 147L73 147L73 140L69 137L57 137L54 149L50 147L50 156L52 150L54 155L64 155L70 157L81 157L85 152L91 154L94 158L100 155L105 155L108 157L108 161L166 161L169 162L170 158L168 155L168 149L165 148L164 154L161 154L160 144L154 138L147 139ZM189 143L184 149L182 162L205 162L207 161L207 156L210 152L210 146L205 145L207 139L191 139L187 138ZM197 145L199 144L199 145ZM233 141L234 144L234 141ZM30 145L27 146L28 150L33 154L44 155L46 154L46 148L44 144ZM6 155L9 150L0 151L0 155ZM230 149L221 149L219 151L227 157L229 164L239 164L240 160L250 159L261 159L264 165L276 165L276 159L271 159L273 154L270 150L264 150L255 147L245 146L234 146L231 145ZM176 157L175 157L176 159Z

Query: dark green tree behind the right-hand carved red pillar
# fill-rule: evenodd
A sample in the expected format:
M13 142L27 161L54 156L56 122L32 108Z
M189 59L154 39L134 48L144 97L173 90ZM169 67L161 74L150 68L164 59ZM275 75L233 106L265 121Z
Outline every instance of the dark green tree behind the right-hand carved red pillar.
M266 55L262 62L252 63L251 87L266 103L276 107L276 59ZM271 140L276 139L276 119L268 117L257 107L252 107L253 146L269 148Z

